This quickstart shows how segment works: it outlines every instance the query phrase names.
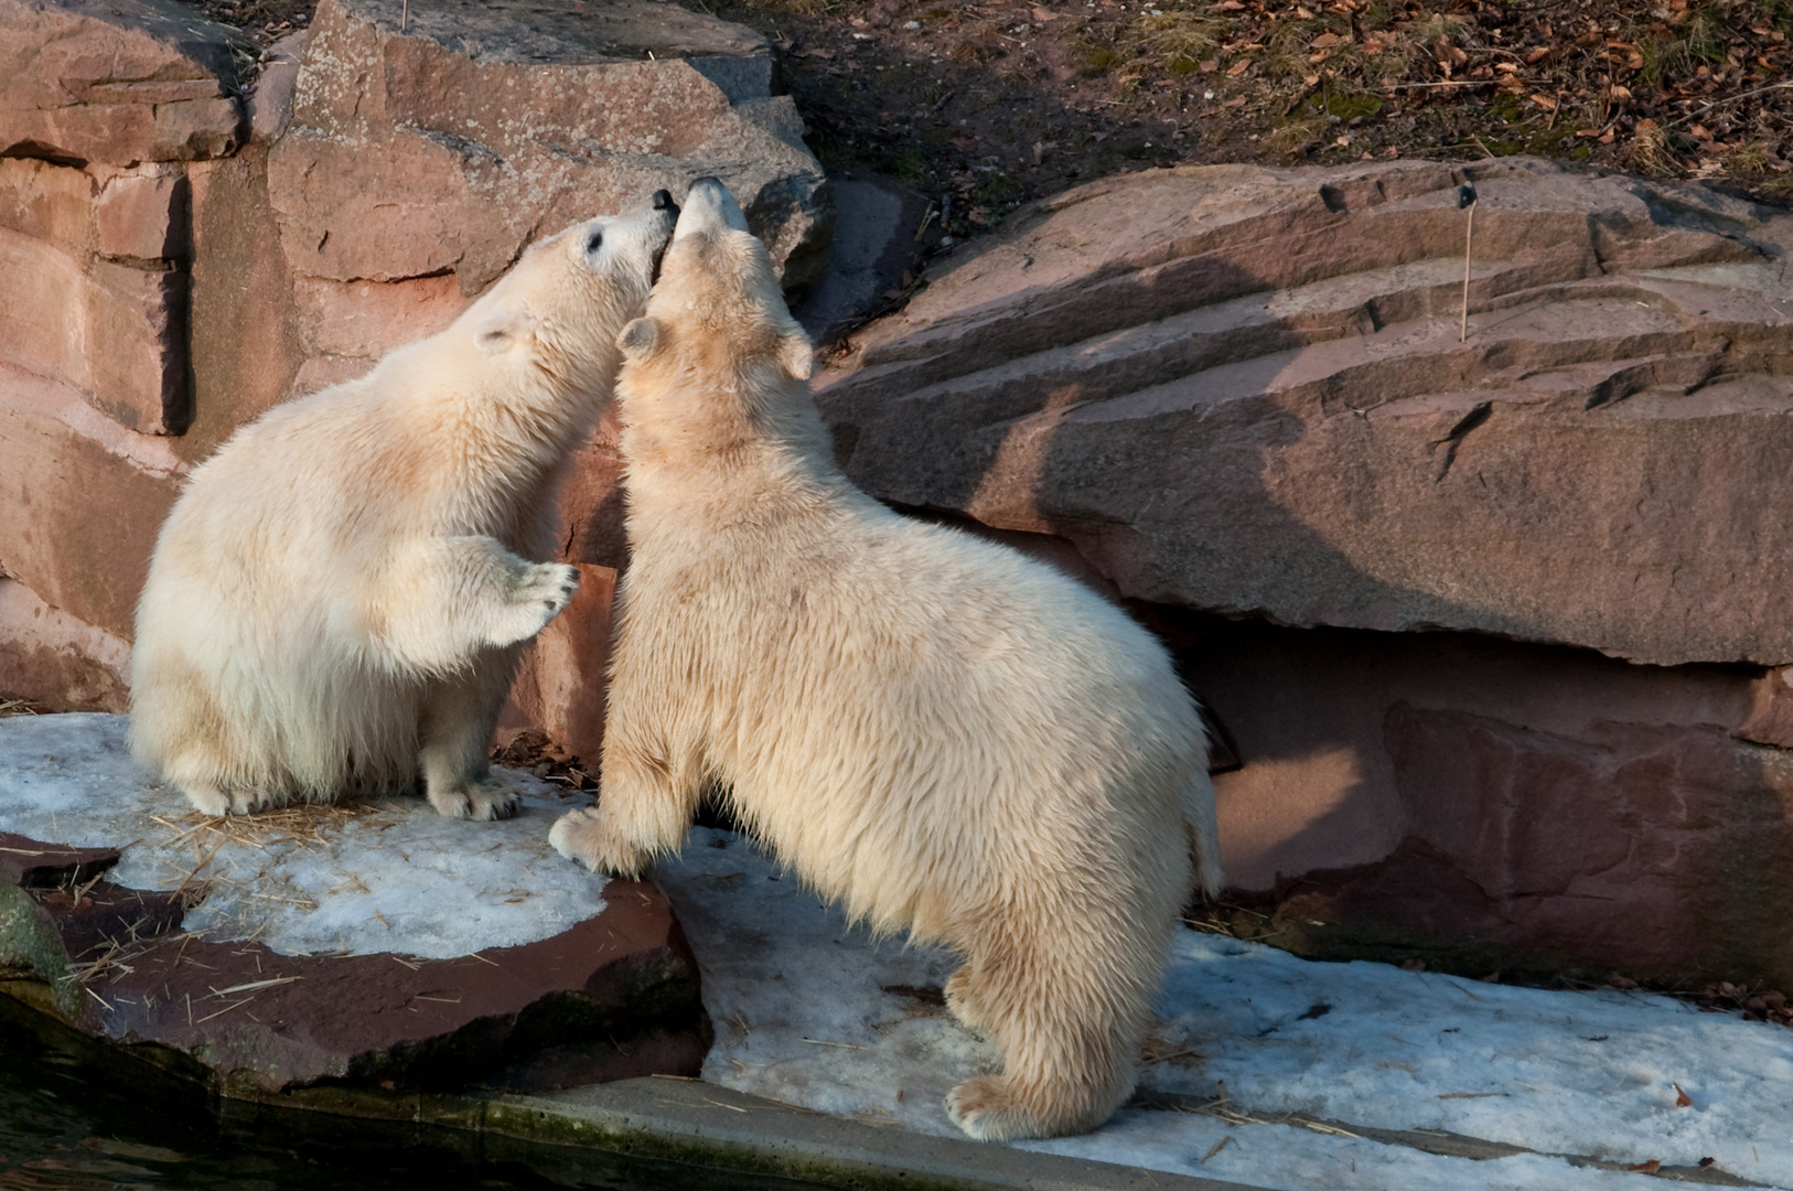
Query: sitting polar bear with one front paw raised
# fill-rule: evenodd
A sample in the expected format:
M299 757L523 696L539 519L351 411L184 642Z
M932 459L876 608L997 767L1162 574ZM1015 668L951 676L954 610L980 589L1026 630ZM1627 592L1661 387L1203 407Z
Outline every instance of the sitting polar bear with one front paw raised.
M522 642L567 604L552 495L678 219L665 190L531 246L446 330L199 466L136 610L131 748L206 814L414 787L491 820Z

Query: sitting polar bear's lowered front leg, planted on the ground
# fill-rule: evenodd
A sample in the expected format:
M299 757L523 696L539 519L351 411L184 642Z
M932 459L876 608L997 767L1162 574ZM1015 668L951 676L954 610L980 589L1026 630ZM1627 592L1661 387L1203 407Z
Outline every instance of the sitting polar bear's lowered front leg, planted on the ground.
M498 820L516 814L516 791L491 777L486 750L511 689L518 653L520 646L488 649L468 669L425 694L423 793L448 818Z

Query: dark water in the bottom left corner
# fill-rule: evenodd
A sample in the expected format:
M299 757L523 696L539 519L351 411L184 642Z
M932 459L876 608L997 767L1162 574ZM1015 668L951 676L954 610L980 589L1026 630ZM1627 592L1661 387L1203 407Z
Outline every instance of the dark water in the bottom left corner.
M0 1191L805 1191L809 1184L217 1100L0 995Z

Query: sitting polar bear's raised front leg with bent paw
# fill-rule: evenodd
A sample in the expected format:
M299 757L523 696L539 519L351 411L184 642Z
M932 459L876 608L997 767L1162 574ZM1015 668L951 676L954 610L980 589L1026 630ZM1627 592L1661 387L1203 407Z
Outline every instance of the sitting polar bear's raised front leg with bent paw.
M497 538L423 538L373 581L369 624L400 667L450 674L540 633L577 587L577 567L527 561Z

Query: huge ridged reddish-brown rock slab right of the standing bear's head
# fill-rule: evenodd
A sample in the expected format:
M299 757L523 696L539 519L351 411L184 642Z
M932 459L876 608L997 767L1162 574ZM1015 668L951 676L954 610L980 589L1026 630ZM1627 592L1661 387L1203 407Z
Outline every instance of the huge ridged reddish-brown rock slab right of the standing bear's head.
M1056 533L1128 597L1779 665L1788 246L1529 160L1148 170L950 256L819 400L873 495Z

